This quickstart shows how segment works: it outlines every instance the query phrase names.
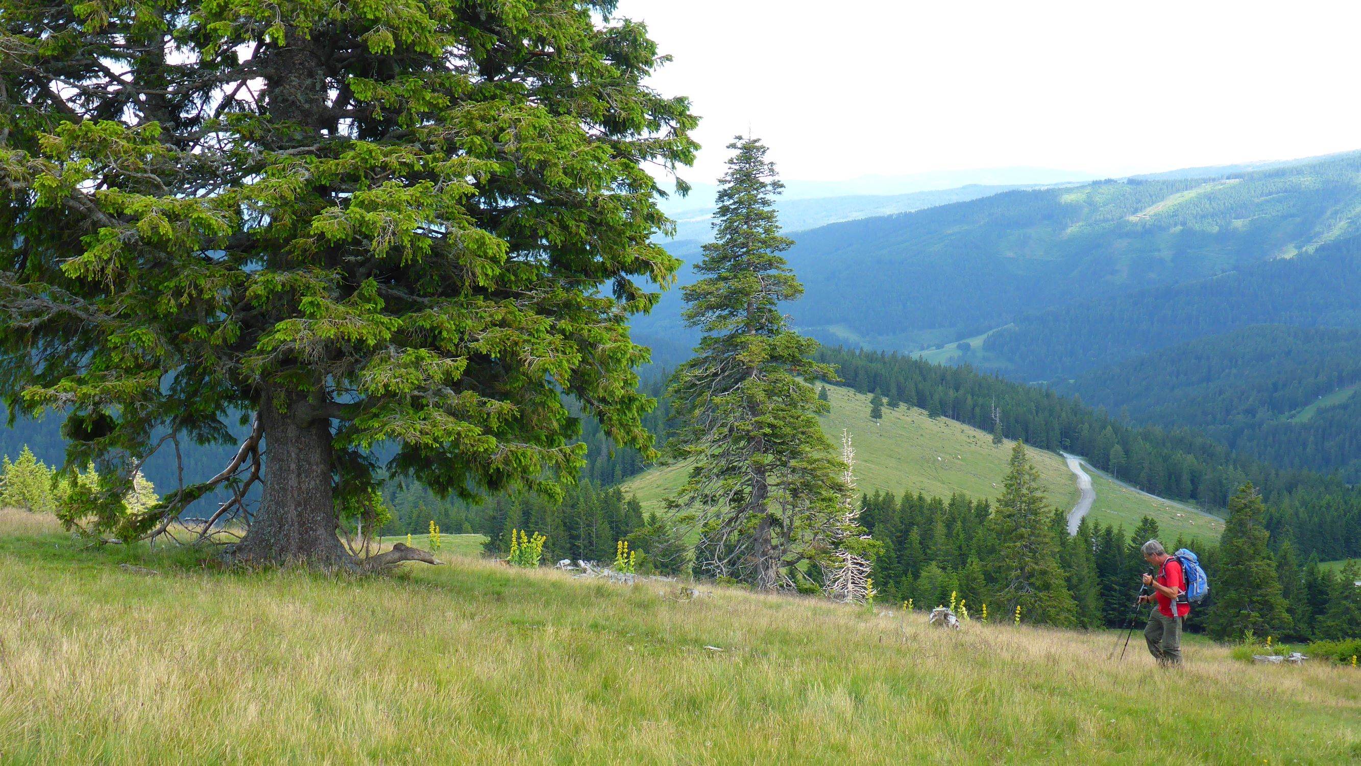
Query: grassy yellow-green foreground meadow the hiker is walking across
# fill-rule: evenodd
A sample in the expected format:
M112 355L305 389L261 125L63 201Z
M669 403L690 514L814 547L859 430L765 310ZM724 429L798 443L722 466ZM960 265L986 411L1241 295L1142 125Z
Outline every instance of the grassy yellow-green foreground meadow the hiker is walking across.
M0 763L1361 761L1350 667L1190 639L1169 673L1112 631L404 566L223 571L4 513Z

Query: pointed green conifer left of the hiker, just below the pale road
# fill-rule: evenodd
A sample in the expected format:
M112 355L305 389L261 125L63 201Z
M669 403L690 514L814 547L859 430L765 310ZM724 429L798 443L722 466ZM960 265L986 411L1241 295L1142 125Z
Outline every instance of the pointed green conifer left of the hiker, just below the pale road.
M1040 490L1040 472L1030 463L1025 444L1017 442L989 522L998 539L998 554L989 562L998 584L995 596L1009 614L1019 605L1022 619L1077 625L1077 604L1059 566L1049 520L1051 506Z

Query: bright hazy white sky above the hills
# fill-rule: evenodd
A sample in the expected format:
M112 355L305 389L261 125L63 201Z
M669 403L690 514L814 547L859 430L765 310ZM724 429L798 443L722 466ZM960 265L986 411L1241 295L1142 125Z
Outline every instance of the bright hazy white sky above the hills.
M1038 166L1123 176L1361 148L1361 3L621 0L704 117L785 178Z

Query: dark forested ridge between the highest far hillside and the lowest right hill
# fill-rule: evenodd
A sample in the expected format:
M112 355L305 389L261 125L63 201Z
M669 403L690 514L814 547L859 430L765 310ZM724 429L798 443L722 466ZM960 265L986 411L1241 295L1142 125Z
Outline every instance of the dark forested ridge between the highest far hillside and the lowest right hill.
M1361 328L1361 237L1214 279L1086 301L1017 320L987 340L1006 374L1071 378L1253 324Z

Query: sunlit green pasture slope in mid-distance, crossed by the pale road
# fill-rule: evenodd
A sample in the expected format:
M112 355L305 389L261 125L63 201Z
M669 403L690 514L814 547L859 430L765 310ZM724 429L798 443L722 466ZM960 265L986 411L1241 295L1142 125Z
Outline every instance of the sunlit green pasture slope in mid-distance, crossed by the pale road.
M851 431L856 484L862 491L901 494L906 490L928 497L964 493L991 499L1002 494L1002 478L1014 444L1010 439L994 445L988 433L947 418L931 419L925 411L905 405L885 407L883 419L876 424L870 419L870 396L841 386L827 386L827 395L832 412L821 419L822 430L837 445L841 430ZM1040 483L1049 502L1071 509L1078 502L1078 486L1063 457L1043 450L1032 450L1030 457L1040 469ZM1149 516L1172 540L1179 533L1217 540L1224 528L1218 520L1121 487L1096 471L1087 469L1087 473L1097 493L1090 514L1094 521L1124 524L1130 531ZM679 490L683 482L685 467L668 465L629 479L623 488L638 498L645 512L659 510L663 498Z

